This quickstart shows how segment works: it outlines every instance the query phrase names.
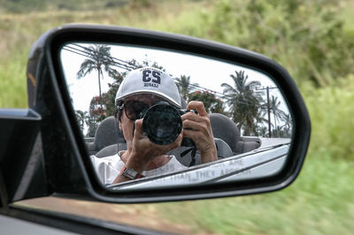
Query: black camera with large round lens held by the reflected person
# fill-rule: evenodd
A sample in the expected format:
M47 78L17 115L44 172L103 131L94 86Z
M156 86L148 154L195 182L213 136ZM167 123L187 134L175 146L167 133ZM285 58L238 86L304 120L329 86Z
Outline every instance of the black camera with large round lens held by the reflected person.
M181 115L196 110L178 110L168 102L156 102L141 114L142 130L149 140L158 145L169 145L177 139L182 130ZM183 138L181 146L195 147L189 138Z

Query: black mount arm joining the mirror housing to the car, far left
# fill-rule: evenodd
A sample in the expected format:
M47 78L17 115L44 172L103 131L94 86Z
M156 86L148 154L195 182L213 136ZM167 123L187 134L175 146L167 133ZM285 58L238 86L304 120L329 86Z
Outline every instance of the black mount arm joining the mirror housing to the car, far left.
M0 172L4 183L1 194L6 199L3 204L48 192L41 121L41 115L32 109L0 109Z

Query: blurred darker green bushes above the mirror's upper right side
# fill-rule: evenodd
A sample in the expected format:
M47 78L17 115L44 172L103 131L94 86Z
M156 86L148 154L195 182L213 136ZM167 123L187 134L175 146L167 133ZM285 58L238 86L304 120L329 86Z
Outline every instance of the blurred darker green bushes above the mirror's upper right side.
M354 73L354 34L344 27L340 3L218 1L212 12L202 13L200 34L279 61L300 85L310 80L326 87Z

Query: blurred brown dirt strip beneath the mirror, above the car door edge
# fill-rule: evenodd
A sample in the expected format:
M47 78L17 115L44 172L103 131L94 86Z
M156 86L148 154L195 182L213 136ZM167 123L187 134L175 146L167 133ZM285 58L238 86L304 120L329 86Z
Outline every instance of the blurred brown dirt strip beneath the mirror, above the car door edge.
M108 220L118 224L128 224L167 233L194 233L185 224L175 224L163 219L156 207L151 204L111 204L92 201L76 201L45 197L20 201L17 205L42 208L79 216Z

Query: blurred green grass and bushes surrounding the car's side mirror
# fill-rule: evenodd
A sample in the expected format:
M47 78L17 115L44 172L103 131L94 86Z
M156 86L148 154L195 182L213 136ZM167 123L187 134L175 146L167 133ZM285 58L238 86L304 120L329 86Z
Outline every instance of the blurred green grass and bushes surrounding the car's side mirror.
M188 34L257 51L289 71L310 112L308 155L288 188L137 207L153 207L161 219L200 234L352 234L354 1L0 0L1 108L27 108L32 43L73 22Z

